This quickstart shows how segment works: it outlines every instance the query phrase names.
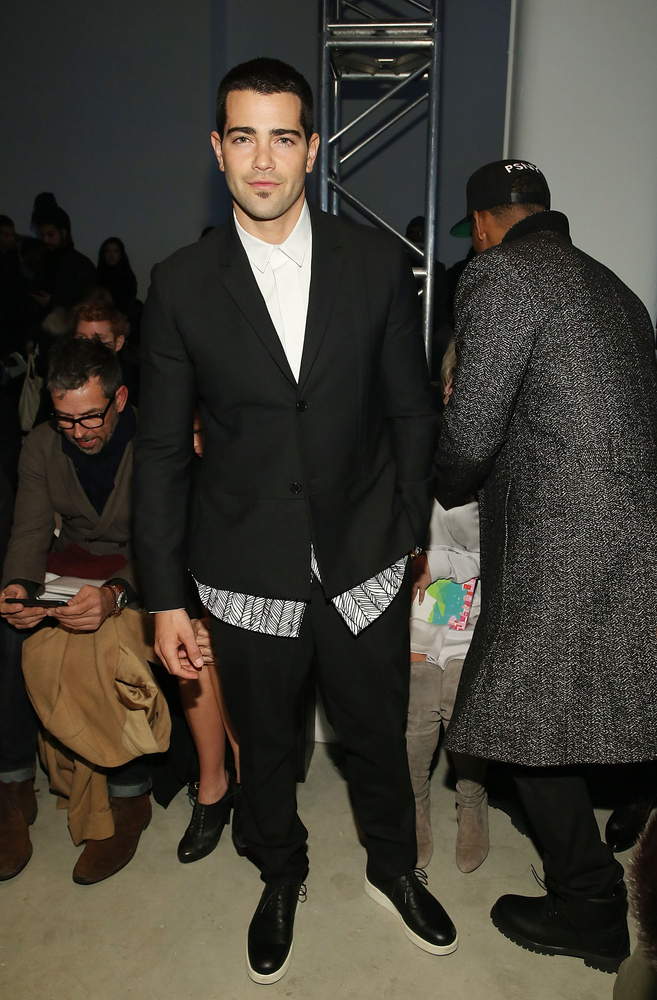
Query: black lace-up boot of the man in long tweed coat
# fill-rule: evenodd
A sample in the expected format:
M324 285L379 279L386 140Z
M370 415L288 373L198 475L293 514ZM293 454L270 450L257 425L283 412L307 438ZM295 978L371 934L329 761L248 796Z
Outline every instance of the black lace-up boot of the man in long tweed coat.
M630 953L627 891L621 880L608 896L502 896L491 910L497 929L541 955L571 955L601 972L618 972Z

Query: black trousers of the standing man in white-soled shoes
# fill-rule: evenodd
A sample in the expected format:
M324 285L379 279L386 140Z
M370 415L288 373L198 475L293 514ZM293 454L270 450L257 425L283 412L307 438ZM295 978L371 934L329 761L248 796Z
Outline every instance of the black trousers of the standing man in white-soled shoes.
M315 583L298 639L212 618L226 706L240 744L244 839L265 882L304 879L308 832L297 815L295 753L301 696L313 665L345 750L368 874L415 867L415 799L406 754L410 572L380 618L353 636Z

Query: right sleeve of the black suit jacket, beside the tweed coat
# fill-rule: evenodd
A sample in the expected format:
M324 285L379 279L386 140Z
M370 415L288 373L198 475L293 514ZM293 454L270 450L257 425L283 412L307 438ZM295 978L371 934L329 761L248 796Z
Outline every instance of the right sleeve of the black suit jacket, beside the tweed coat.
M397 465L397 488L416 545L424 545L433 501L438 418L420 325L417 289L401 246L381 356L381 382Z

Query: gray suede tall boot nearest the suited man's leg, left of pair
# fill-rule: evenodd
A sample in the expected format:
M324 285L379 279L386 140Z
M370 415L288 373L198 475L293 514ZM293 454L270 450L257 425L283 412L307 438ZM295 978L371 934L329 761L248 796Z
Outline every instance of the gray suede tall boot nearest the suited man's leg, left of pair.
M440 689L442 670L426 660L411 661L406 746L411 782L415 793L417 866L429 864L433 853L431 835L429 770L440 736Z

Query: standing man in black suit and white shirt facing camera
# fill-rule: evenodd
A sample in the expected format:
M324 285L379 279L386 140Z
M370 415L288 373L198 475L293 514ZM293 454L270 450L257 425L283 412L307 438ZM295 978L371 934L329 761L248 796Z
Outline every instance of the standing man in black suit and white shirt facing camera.
M313 661L346 751L366 891L425 951L457 945L414 874L404 735L409 554L428 525L435 447L417 294L401 245L308 209L312 116L284 63L225 77L212 142L233 217L154 269L142 333L139 558L171 672L202 668L182 610L188 566L212 614L244 839L265 882L247 949L259 983L289 965L308 871L295 745Z

